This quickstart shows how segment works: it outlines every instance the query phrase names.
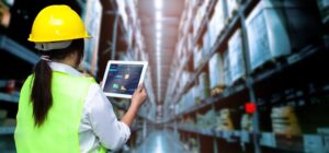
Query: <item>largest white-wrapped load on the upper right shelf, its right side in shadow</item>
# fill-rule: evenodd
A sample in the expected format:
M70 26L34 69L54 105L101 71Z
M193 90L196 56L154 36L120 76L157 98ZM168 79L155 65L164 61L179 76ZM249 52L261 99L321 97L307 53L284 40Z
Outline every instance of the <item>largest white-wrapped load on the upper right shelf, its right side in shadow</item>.
M318 25L299 0L262 0L247 19L251 70L299 50L319 37Z

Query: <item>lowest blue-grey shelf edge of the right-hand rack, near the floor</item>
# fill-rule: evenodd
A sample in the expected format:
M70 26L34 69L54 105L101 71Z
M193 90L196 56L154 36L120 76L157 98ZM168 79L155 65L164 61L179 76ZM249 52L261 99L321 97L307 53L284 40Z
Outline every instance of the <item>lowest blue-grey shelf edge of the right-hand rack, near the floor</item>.
M173 127L171 126L171 128ZM325 145L321 142L324 139L324 136L321 134L284 136L273 132L254 133L240 130L218 131L212 129L186 128L184 126L179 126L178 129L200 136L225 139L229 143L251 143L252 137L257 136L258 138L260 138L259 143L261 146L271 148L274 150L305 152L315 148L317 149L317 151L324 151ZM317 143L317 141L320 142Z

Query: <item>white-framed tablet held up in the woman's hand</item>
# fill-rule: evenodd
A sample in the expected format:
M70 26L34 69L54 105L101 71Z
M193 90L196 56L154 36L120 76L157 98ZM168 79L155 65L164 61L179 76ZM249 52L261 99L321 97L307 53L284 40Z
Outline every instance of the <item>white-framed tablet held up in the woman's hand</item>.
M110 60L103 76L104 94L110 97L132 98L144 81L147 64L147 61Z

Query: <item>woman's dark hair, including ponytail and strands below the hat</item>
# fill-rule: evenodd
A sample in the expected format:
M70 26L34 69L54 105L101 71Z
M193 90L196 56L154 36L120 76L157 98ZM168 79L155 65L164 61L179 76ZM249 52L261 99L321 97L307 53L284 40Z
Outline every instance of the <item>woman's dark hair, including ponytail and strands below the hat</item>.
M65 49L56 49L50 51L42 51L43 56L49 56L50 60L65 59L70 54L77 52L77 66L83 58L83 39L73 39L69 47ZM31 93L31 102L33 104L34 125L41 127L46 118L48 110L53 106L52 94L52 68L46 60L39 60L34 68L34 81Z

